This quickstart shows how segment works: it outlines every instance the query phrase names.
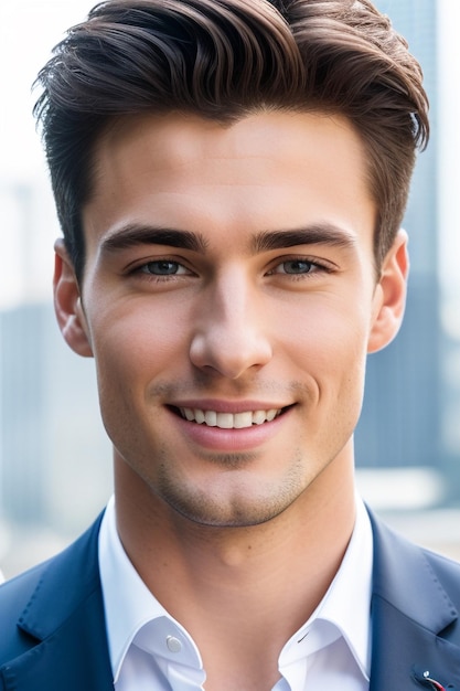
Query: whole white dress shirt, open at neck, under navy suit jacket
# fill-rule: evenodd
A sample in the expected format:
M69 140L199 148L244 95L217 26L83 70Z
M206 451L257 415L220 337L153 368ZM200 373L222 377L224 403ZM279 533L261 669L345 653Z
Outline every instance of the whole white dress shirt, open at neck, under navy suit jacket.
M282 648L280 679L271 691L368 690L372 552L370 519L357 499L342 564L315 612ZM117 533L114 498L100 527L99 568L116 691L202 690L206 673L200 651L129 561Z

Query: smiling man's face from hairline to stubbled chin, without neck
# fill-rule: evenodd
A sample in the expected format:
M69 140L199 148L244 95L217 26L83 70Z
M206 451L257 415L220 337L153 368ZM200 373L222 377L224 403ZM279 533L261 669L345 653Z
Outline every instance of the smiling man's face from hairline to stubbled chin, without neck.
M213 525L264 522L343 474L366 352L389 340L347 121L146 115L96 164L77 317L116 463Z

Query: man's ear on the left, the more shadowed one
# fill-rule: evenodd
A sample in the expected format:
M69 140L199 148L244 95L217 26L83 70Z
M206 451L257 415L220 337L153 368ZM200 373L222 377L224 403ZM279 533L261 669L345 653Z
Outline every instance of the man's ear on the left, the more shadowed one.
M93 357L85 312L82 307L81 291L73 264L64 242L54 244L54 310L57 323L66 343L78 355Z

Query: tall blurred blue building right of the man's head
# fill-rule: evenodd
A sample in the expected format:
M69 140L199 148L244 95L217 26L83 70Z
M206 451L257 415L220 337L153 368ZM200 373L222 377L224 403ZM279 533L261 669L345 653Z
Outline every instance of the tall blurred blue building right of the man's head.
M436 0L377 0L422 65L430 99L431 138L420 155L404 226L409 233L410 277L405 322L397 339L368 359L366 394L356 434L361 467L428 467L449 474L452 497L459 475L442 435L448 386L442 380L438 262L438 46Z

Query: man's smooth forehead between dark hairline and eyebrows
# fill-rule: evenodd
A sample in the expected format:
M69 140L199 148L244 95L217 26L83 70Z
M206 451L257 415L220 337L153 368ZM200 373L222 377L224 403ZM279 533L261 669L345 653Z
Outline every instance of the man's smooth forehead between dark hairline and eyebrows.
M367 188L363 146L340 117L264 111L224 126L145 114L105 134L83 215L107 251L149 243L149 228L151 242L159 230L163 244L171 230L197 242L202 221L225 232L229 220L250 228L253 247L346 244L359 209L374 206Z

